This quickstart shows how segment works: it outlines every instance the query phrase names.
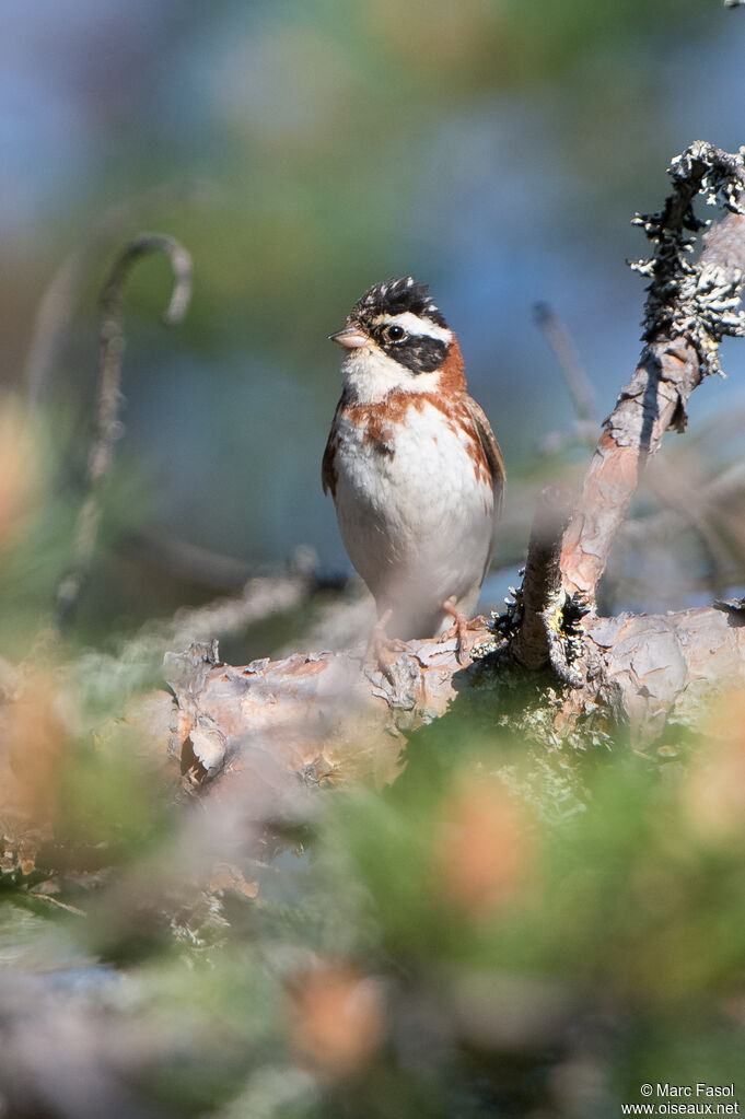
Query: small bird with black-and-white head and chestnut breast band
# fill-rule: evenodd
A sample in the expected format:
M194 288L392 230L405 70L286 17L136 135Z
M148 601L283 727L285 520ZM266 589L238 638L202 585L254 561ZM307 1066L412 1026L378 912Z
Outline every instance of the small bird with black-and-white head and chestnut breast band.
M321 480L349 557L386 638L456 634L460 651L504 463L466 392L458 339L412 276L375 284L329 337L347 351L346 379Z

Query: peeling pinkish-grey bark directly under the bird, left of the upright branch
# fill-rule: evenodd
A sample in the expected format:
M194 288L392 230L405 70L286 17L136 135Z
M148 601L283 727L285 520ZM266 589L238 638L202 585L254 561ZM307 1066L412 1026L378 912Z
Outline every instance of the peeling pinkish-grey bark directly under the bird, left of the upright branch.
M485 627L475 637L491 640ZM196 786L218 774L263 786L270 773L284 789L289 774L307 786L355 774L393 780L404 733L442 715L466 673L455 639L408 642L393 683L365 664L364 652L360 646L232 667L213 642L169 656L171 756Z

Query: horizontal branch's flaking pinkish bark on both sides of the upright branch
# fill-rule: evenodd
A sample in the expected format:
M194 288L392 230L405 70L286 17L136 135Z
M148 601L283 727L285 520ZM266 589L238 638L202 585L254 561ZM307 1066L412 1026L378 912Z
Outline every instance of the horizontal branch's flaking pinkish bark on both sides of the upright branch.
M487 626L473 636L477 648L493 642ZM745 685L745 611L738 609L594 617L585 641L592 687L567 688L574 715L611 713L640 745L656 741L672 714L677 723L696 725L719 694ZM496 713L503 650L488 669ZM244 791L253 789L257 808L266 807L262 790L271 791L274 810L277 791L290 793L292 781L393 780L405 733L456 699L466 708L485 671L479 658L461 666L454 641L408 642L396 661L396 687L361 664L361 648L245 668L208 665L204 657L205 647L196 646L171 660L178 660L181 683L171 680L170 753L195 784L218 775L218 784L239 781Z

